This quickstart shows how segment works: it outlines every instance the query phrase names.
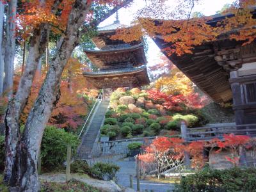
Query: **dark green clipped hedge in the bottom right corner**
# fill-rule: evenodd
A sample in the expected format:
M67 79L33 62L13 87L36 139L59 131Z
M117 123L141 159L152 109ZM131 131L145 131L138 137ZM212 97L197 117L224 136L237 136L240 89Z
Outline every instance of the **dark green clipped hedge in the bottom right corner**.
M225 192L225 191L255 191L255 168L231 168L227 170L205 169L193 175L182 177L176 186L176 192Z

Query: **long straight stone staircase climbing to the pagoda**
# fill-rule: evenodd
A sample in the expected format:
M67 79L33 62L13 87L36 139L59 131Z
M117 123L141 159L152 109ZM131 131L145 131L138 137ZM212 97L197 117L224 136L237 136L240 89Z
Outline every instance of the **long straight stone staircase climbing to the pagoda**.
M82 143L77 150L77 159L90 159L93 144L97 139L108 105L109 101L104 100L100 102L99 107L96 108L96 111L92 116L92 120L88 125L88 130L84 133Z

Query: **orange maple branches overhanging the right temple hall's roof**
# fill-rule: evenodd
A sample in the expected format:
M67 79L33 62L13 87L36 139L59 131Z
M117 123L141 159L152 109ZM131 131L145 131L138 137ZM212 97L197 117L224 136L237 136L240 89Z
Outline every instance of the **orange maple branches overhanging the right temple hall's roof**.
M223 15L232 15L217 22L216 26L211 26L207 22L212 17L193 17L191 18L191 10L196 3L200 1L184 1L178 3L179 7L174 12L168 12L169 15L163 13L166 7L166 1L158 0L154 4L154 9L149 5L141 10L140 17L131 28L119 29L113 39L122 39L125 42L138 40L143 33L154 38L156 35L163 36L165 42L172 42L170 47L166 47L163 51L170 54L181 55L184 53L192 53L196 45L216 40L221 34L230 33L228 38L244 41L243 45L250 44L256 37L256 29L254 28L256 20L253 18L253 10L255 0L237 0L230 5L229 8L223 10ZM177 14L186 13L188 14ZM149 11L151 10L151 12ZM157 10L157 12L154 12ZM165 17L164 17L165 16ZM154 19L150 19L154 18ZM156 19L159 18L159 19ZM166 20L166 19L170 20ZM165 19L165 20L163 20Z

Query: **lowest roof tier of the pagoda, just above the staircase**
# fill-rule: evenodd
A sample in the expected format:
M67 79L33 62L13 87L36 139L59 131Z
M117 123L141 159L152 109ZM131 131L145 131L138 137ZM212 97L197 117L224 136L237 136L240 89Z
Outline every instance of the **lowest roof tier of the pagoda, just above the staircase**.
M96 88L138 87L150 83L146 65L83 72L83 76Z

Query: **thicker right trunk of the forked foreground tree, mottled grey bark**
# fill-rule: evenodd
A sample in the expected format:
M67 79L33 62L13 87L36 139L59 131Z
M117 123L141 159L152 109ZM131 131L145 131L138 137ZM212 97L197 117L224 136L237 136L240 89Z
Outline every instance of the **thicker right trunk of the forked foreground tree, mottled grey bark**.
M45 125L51 116L52 107L60 96L60 80L63 68L78 44L78 29L83 24L88 10L90 10L90 5L87 5L86 1L83 0L77 0L72 7L65 38L49 66L44 84L26 121L22 140L18 143L16 162L12 168L12 172L14 172L12 175L17 175L17 177L12 177L10 180L11 191L32 192L39 190L40 182L36 164L40 143Z

